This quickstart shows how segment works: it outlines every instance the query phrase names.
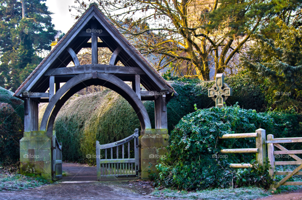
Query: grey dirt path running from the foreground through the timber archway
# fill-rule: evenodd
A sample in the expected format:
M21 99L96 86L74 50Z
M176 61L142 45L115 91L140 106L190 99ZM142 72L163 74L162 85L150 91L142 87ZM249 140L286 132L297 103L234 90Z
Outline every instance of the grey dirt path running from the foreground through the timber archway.
M148 182L95 182L96 167L63 163L62 169L69 176L58 183L17 192L0 192L0 200L141 200L151 192Z

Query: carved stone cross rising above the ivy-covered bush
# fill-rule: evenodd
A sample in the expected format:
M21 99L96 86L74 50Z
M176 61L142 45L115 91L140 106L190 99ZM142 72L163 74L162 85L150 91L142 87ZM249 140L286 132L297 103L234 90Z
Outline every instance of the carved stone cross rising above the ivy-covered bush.
M224 82L224 75L216 75L216 83L209 89L209 97L212 97L216 106L223 107L227 97L233 96L232 87L229 87Z

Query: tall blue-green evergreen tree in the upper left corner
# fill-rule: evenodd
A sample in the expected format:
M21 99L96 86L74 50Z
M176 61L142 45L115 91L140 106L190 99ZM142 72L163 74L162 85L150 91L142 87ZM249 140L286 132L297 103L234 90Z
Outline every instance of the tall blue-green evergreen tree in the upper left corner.
M13 92L50 50L57 31L46 0L0 0L0 86Z

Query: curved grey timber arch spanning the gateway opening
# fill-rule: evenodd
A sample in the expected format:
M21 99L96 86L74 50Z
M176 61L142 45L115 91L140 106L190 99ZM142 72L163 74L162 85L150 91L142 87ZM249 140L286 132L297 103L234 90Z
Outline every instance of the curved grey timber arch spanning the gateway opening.
M151 129L147 110L131 87L112 74L94 72L74 76L53 95L43 115L40 130L46 130L48 124L47 132L52 133L54 120L64 103L73 94L90 85L102 85L119 93L135 110L142 130Z

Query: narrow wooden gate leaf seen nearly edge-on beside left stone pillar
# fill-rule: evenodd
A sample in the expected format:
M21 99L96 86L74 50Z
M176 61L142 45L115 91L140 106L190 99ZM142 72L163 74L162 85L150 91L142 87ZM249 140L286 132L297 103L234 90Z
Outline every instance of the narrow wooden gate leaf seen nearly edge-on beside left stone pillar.
M56 134L52 140L52 177L53 180L62 179L62 143L58 142Z

